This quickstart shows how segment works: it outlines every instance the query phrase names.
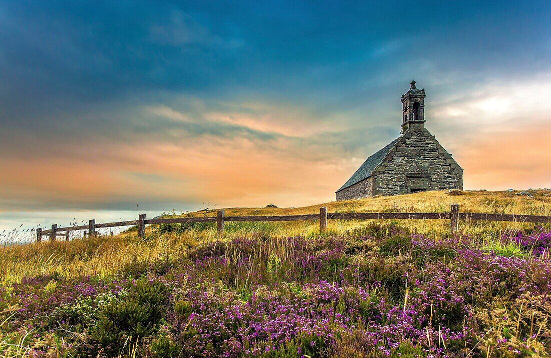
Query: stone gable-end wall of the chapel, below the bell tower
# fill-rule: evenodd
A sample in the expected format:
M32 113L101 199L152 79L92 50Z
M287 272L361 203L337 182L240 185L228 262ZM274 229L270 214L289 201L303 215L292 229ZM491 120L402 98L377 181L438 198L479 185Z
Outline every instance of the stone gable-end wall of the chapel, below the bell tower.
M409 194L415 190L463 190L463 169L426 129L406 131L374 170L373 177L371 195Z

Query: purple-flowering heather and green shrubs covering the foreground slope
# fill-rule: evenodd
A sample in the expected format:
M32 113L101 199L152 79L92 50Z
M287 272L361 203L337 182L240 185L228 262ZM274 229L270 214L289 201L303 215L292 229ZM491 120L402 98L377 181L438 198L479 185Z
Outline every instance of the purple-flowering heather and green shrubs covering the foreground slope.
M510 238L523 256L399 229L217 241L161 273L2 287L0 334L35 357L543 356L548 238Z

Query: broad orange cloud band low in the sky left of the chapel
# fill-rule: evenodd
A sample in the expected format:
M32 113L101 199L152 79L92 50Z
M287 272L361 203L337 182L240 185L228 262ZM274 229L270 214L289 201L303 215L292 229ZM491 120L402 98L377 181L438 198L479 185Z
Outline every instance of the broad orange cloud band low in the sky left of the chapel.
M98 143L91 152L60 153L48 161L0 159L3 198L42 207L203 201L296 206L331 200L343 180L334 159L312 162L248 139L198 138L182 146Z

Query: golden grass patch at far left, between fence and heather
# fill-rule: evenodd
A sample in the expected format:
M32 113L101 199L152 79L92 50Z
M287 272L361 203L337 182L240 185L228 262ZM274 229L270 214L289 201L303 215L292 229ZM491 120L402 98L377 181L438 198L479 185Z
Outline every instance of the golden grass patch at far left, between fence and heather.
M23 277L54 273L67 277L127 274L158 260L180 257L196 244L190 232L178 236L157 235L150 240L128 233L10 246L3 248L0 256L0 281L18 282Z

